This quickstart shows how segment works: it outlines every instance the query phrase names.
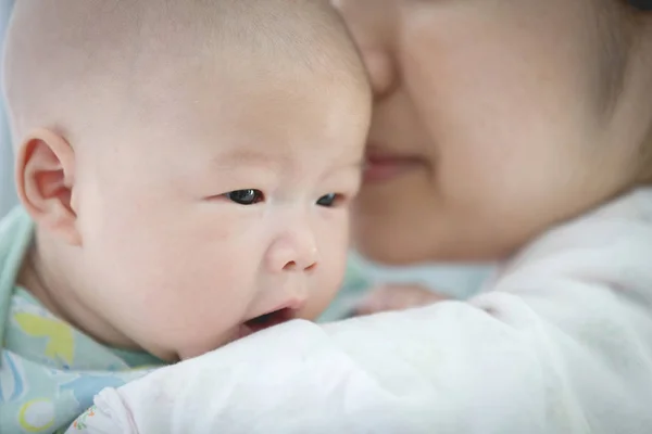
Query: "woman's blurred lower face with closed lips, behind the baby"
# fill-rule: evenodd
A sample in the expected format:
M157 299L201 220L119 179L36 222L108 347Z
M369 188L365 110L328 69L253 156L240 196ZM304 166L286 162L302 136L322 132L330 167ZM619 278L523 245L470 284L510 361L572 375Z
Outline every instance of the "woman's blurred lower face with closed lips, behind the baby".
M616 67L619 34L605 29L623 22L607 2L334 3L376 95L363 254L501 258L632 182L652 74Z

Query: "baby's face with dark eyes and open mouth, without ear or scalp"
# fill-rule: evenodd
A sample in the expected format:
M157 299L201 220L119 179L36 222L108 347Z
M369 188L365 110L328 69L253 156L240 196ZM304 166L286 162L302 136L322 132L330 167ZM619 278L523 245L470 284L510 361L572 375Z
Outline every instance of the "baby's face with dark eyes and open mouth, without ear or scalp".
M76 155L86 303L164 359L313 319L343 275L365 92L246 81L166 89Z

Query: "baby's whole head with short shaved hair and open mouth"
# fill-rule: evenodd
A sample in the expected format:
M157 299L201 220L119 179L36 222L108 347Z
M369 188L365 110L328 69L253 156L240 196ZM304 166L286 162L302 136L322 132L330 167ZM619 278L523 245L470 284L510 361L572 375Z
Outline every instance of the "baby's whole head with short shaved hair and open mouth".
M327 3L21 0L4 81L64 318L174 360L330 301L371 100Z

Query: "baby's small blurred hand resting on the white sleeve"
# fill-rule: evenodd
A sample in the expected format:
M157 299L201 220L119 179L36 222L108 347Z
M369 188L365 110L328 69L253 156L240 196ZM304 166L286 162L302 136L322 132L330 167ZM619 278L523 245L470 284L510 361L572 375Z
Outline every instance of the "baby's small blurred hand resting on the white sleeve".
M352 316L404 310L412 307L427 306L447 298L419 285L383 285L365 295L353 308Z

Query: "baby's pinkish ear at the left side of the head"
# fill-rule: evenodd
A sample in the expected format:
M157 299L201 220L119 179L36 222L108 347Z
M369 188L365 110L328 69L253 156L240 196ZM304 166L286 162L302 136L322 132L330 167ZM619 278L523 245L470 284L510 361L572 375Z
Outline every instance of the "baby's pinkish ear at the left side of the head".
M79 245L72 203L75 153L70 143L49 129L33 131L17 150L15 173L21 202L38 227Z

